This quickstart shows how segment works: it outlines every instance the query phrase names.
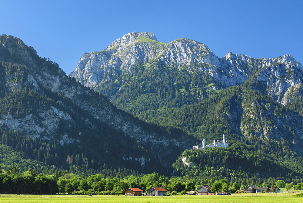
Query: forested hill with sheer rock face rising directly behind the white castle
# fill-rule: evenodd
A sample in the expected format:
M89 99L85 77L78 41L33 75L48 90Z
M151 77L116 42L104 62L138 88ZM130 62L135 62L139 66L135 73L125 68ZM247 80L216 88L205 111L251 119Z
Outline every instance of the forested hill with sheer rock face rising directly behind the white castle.
M262 82L246 81L229 87L195 105L155 111L152 122L178 126L209 142L225 132L230 141L241 137L287 140L290 149L301 155L300 100L279 104L264 95Z

